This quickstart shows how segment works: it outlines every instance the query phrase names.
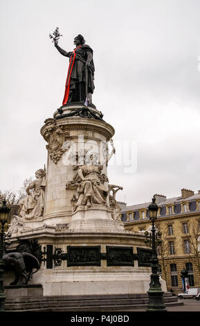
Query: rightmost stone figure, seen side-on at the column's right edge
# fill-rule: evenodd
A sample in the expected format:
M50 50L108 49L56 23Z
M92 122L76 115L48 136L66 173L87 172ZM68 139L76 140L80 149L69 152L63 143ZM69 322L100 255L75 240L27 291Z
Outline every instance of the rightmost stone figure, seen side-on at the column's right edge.
M117 185L109 185L109 204L112 209L111 216L113 221L116 221L120 225L124 225L120 219L121 208L116 200L116 192L122 190L123 188ZM112 195L110 194L112 191Z

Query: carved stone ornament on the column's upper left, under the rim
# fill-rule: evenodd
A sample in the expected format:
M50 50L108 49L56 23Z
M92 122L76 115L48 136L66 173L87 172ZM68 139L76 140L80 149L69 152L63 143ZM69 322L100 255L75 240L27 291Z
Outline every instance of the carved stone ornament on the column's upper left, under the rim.
M51 120L51 121L50 121ZM70 140L69 131L65 131L63 126L57 126L54 119L46 119L46 130L44 132L44 139L48 142L46 149L50 153L51 160L57 164L61 159L62 154L69 150L68 146L63 146L64 141Z

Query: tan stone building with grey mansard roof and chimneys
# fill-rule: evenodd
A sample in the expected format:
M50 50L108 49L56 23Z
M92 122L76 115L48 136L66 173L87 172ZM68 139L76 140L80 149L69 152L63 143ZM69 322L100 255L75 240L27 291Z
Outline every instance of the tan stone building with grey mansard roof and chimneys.
M158 261L167 291L183 292L183 268L188 271L190 288L200 288L200 191L194 194L189 189L181 189L181 196L174 198L154 196L158 205L156 228L162 233L162 243L157 248ZM119 203L126 230L147 230L151 225L150 203L132 206Z

